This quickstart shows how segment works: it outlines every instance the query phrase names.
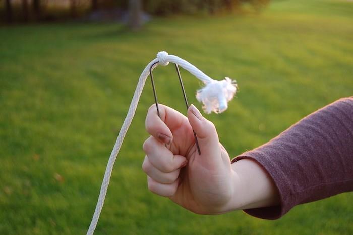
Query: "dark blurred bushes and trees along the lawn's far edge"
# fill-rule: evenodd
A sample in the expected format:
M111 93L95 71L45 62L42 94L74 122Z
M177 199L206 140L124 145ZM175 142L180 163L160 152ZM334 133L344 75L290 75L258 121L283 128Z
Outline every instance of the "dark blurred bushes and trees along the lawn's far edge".
M135 3L151 15L170 14L215 14L236 12L242 6L262 10L270 0L0 0L0 20L13 22L54 21L65 19L86 20L87 16L124 15ZM130 9L131 10L131 9ZM102 17L101 17L102 18ZM116 19L114 19L116 20Z

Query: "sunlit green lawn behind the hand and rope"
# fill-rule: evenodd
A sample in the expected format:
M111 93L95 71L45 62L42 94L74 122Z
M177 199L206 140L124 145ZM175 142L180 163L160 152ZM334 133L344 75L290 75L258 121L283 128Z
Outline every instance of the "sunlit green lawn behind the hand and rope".
M0 234L85 234L138 76L166 50L240 92L209 115L236 156L353 94L353 2L273 1L261 15L0 28ZM190 101L199 82L182 71ZM155 70L161 103L185 113L172 66ZM150 84L116 161L96 234L353 234L353 194L266 221L192 214L147 190L141 170Z

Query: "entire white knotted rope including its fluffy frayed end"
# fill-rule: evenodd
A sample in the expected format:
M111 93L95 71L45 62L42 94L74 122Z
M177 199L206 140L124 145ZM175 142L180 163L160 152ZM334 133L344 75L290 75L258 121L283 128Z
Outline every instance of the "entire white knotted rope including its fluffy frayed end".
M134 96L132 98L132 101L129 107L128 114L124 120L122 128L120 129L119 135L116 138L116 142L114 144L113 150L111 151L108 164L105 169L104 178L103 178L102 185L100 187L100 193L98 196L96 209L94 211L91 224L88 228L87 235L92 235L97 226L99 215L103 208L106 192L108 190L108 185L110 181L111 172L113 170L114 162L123 144L124 137L128 132L132 119L134 118L134 115L137 109L137 104L140 100L143 87L149 75L149 68L151 67L152 64L156 62L158 63L153 66L152 70L158 64L166 66L169 64L169 62L172 62L188 70L191 74L193 74L204 84L206 84L204 88L197 91L197 95L196 95L198 101L201 101L204 104L203 108L206 113L210 113L211 111L214 111L215 113L221 113L224 110L226 110L228 107L227 102L233 98L234 94L237 91L237 85L235 81L232 81L227 77L222 81L213 80L212 78L204 74L202 71L200 71L198 68L196 68L194 65L190 64L186 60L183 60L174 55L168 55L168 53L164 51L158 52L157 58L152 60L140 75Z

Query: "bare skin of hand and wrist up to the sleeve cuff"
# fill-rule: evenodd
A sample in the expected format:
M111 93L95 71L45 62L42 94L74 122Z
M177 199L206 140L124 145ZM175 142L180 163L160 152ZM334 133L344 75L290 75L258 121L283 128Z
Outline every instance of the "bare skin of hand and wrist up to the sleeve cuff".
M219 143L216 128L191 105L188 116L159 105L146 116L151 136L143 144L148 189L197 214L279 205L276 187L254 160L233 164ZM198 154L195 131L201 155Z

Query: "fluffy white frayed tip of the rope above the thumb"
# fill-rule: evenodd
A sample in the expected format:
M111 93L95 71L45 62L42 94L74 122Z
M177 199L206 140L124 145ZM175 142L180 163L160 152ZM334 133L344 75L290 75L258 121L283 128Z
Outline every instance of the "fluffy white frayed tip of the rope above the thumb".
M233 99L238 90L237 82L225 77L224 80L213 80L196 92L196 99L203 103L203 110L210 114L212 111L221 113L228 108L228 101Z

